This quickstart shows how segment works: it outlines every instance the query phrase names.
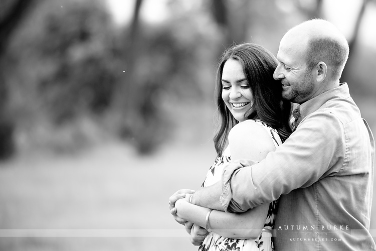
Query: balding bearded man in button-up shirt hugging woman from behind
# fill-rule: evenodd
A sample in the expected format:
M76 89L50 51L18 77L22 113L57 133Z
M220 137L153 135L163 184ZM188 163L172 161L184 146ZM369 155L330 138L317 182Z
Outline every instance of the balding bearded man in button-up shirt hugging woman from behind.
M282 97L299 104L295 131L260 163L230 164L223 182L197 191L192 203L244 212L279 198L276 250L376 250L369 233L374 140L339 82L347 58L346 39L327 21L289 30L274 78Z

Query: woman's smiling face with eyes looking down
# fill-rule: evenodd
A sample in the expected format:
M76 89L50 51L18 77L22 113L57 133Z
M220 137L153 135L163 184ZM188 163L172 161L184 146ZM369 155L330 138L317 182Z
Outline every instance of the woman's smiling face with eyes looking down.
M243 67L239 61L229 59L223 66L222 99L236 120L245 120L244 114L252 107L254 99Z

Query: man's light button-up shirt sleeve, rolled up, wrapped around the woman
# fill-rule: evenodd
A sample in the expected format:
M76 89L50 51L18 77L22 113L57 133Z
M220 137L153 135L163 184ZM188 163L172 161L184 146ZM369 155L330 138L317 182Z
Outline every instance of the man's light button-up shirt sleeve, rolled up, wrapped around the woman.
M244 212L335 175L341 165L334 164L344 158L343 132L343 124L333 113L310 114L260 163L253 166L239 163L235 164L237 168L229 165L224 170L222 205L229 212ZM227 188L225 174L230 177Z

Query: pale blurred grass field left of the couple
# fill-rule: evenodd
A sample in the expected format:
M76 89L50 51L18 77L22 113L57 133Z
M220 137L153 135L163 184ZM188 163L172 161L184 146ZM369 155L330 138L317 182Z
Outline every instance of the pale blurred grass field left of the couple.
M111 143L76 157L29 156L2 164L0 250L196 250L167 201L177 189L200 187L215 157L212 148L180 146L139 157ZM4 229L26 234L4 237ZM33 229L73 231L71 237L41 237ZM89 233L76 236L78 229ZM100 229L103 236L90 234ZM131 231L122 235L121 229Z

